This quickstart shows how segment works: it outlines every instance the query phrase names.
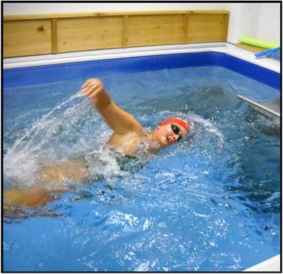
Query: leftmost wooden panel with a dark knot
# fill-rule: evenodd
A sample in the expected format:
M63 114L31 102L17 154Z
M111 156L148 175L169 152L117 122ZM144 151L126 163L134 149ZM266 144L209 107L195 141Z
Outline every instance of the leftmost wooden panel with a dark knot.
M3 45L4 58L52 53L51 20L5 22Z

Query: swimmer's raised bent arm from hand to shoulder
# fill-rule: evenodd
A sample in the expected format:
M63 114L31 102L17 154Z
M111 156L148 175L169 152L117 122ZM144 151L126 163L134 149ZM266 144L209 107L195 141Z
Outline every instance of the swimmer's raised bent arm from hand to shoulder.
M98 112L116 134L142 132L142 125L111 100L100 79L87 79L82 89L83 95L92 99L92 103L94 103Z

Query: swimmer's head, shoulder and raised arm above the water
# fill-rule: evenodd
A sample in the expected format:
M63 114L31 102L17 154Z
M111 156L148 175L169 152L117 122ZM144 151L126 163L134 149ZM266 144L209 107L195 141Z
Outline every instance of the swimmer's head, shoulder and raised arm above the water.
M126 155L135 153L142 141L148 143L150 151L175 144L187 134L189 123L177 118L168 118L161 122L153 132L144 132L142 125L128 112L125 112L109 97L99 79L88 79L82 86L83 95L92 103L113 129L108 140L111 148L122 148Z

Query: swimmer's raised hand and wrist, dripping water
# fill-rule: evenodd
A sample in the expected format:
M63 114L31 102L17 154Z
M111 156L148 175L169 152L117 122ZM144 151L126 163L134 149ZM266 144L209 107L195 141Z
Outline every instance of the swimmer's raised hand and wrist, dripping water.
M111 99L103 86L103 82L97 78L90 78L85 81L83 86L81 86L83 90L83 96L89 97L92 99L92 102L100 110L101 108L105 108L109 103L111 103Z

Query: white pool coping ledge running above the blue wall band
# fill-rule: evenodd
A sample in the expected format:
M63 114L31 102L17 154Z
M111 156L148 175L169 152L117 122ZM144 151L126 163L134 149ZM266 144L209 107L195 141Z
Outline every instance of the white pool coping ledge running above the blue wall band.
M153 47L132 47L127 49L105 49L96 51L78 51L73 53L57 53L34 55L21 58L3 59L3 69L15 69L27 66L42 66L47 64L64 64L90 60L108 60L113 58L129 58L173 53L197 53L215 51L226 53L247 62L265 67L280 73L280 61L271 58L254 58L254 53L240 49L226 42L197 43L187 45L167 45Z

